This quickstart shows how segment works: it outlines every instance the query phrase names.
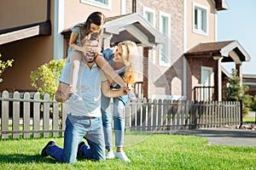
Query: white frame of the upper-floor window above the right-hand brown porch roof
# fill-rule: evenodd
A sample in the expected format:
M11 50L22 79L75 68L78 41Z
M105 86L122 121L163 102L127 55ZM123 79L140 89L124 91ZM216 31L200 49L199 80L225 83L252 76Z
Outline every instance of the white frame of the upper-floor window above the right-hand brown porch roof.
M198 23L197 25L199 25L198 28L196 28L196 25L195 25L195 15L196 15L195 9L197 10L197 13L198 11L200 12L200 14L197 14L197 23ZM206 6L203 6L199 3L193 3L193 19L192 19L193 32L197 34L205 35L205 36L208 35L208 22L209 22L208 11L209 9ZM202 19L201 17L202 12L204 13L203 15L204 19Z

